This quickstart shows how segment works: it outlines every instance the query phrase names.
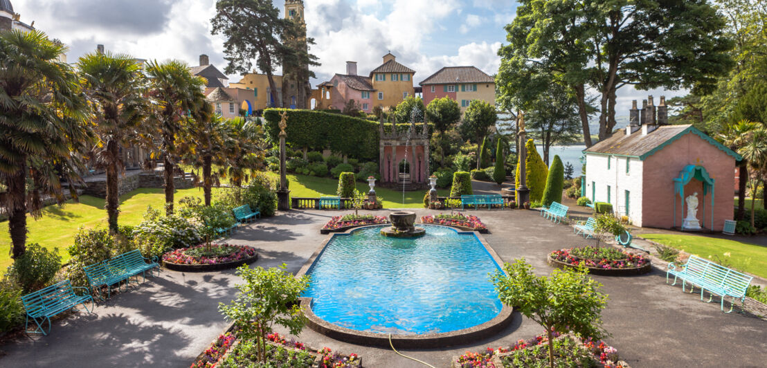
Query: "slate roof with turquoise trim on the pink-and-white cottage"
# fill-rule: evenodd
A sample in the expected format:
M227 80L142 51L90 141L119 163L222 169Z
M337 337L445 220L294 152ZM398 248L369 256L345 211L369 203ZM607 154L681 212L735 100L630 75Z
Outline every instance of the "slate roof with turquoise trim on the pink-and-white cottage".
M742 157L733 152L732 149L723 146L722 143L717 142L706 133L697 130L690 124L686 125L663 125L658 126L656 130L647 133L646 136L642 135L642 130L637 130L626 136L626 129L618 130L613 133L606 140L602 140L594 146L584 149L584 153L604 153L620 156L638 157L639 159L646 159L653 153L658 152L663 147L673 143L673 141L680 139L687 133L693 133L703 138L708 143L711 143L716 148L721 149L724 153L734 157L736 160L741 160Z

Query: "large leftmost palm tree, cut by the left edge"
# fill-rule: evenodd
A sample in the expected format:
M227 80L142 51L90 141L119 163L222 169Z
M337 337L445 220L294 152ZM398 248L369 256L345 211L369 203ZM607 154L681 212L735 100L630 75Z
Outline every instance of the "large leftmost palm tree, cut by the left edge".
M0 34L0 179L8 186L5 210L14 259L25 252L28 176L32 214L39 215L41 191L64 202L61 179L73 189L79 177L76 152L91 141L77 75L60 61L66 51L41 31Z

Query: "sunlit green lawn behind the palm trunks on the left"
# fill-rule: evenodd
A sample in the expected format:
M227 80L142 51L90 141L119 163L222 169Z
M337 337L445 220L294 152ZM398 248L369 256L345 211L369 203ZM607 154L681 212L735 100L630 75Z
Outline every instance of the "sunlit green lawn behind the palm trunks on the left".
M176 191L178 201L186 195L202 198L202 189L191 188ZM146 212L146 206L163 209L165 194L163 189L140 188L120 196L120 225L138 225ZM8 248L11 236L8 234L8 222L0 222L0 271L11 265ZM80 202L68 201L63 207L49 205L43 209L43 215L35 220L27 218L27 242L39 243L45 248L59 248L62 261L69 259L66 248L74 242L77 228L95 228L107 226L107 211L104 210L104 199L81 195Z

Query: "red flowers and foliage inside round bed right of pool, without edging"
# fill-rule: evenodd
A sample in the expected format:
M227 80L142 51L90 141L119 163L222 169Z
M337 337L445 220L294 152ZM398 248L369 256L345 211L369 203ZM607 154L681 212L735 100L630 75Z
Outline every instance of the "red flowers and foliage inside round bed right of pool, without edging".
M581 247L552 251L551 259L588 268L640 268L650 263L644 255L632 255L615 248Z

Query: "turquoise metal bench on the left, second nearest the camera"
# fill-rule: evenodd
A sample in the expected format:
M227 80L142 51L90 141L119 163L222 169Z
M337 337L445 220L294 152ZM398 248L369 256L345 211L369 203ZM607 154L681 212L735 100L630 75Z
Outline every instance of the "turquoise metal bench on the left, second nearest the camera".
M130 282L130 278L138 276L138 274L141 274L146 281L146 271L151 274L152 271L159 270L160 264L157 263L157 259L144 258L138 249L84 267L91 291L98 291L99 296L101 296L101 288L106 286L107 297L112 296L112 286L117 285L119 288L123 281L126 281L127 284Z

